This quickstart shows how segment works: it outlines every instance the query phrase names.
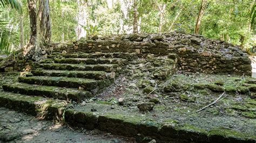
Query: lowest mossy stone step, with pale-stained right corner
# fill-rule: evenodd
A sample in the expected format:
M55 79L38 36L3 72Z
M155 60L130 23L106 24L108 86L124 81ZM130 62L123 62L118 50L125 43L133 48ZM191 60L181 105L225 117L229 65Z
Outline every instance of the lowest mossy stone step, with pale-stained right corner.
M0 106L22 111L40 119L62 121L67 104L66 101L56 99L0 91Z

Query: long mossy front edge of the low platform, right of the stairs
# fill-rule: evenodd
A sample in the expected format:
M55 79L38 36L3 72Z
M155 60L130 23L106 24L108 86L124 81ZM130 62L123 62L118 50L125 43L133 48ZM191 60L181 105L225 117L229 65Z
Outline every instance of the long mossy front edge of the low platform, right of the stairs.
M192 126L179 125L175 120L162 123L152 120L142 120L134 116L112 113L99 115L96 112L68 109L64 113L65 123L71 126L85 127L89 130L98 128L113 134L134 137L137 141L156 139L159 142L255 142L255 137L244 133L214 128L210 131Z

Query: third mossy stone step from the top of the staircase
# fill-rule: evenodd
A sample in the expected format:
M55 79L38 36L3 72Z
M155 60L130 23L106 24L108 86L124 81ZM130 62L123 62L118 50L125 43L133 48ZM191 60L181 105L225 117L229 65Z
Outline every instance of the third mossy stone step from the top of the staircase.
M55 70L92 70L92 71L119 71L121 68L117 64L99 64L99 65L76 65L68 63L42 63L39 65L44 69Z

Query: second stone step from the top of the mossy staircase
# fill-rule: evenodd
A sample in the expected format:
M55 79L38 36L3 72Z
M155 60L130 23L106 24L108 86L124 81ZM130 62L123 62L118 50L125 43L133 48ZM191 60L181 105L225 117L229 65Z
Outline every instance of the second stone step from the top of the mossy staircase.
M125 59L87 59L87 58L64 58L64 59L54 59L55 63L72 63L79 64L84 63L86 65L96 65L96 64L127 64Z

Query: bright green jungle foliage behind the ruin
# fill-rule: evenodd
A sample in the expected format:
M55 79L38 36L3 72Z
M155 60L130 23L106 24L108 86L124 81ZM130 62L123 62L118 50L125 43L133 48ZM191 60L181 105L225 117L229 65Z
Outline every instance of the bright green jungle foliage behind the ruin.
M242 48L256 45L254 0L52 0L49 6L51 42L90 35L132 33L134 24L139 33L181 31L192 34L203 6L199 34ZM30 19L26 0L1 0L0 16L2 52L10 53L29 42Z

